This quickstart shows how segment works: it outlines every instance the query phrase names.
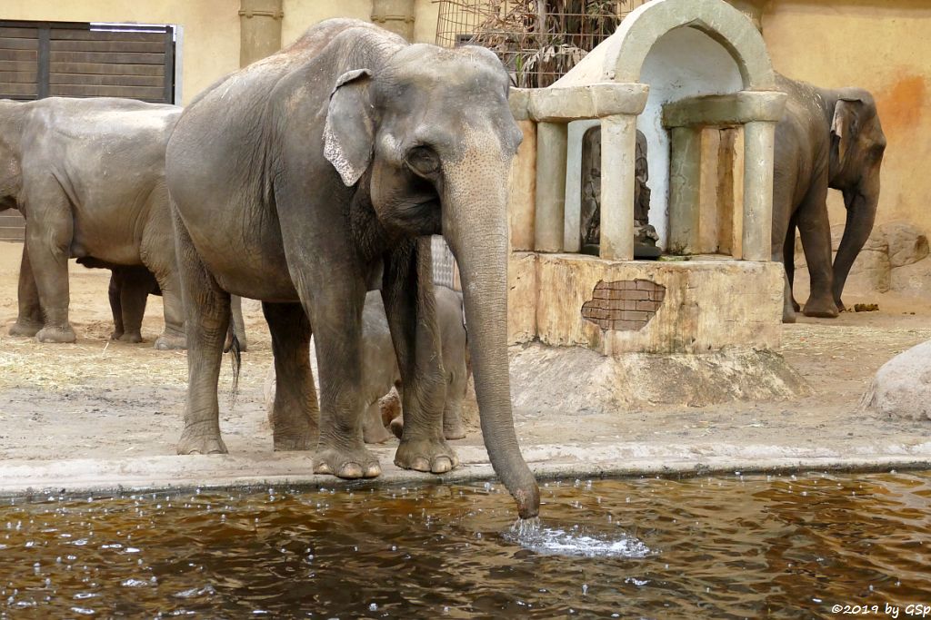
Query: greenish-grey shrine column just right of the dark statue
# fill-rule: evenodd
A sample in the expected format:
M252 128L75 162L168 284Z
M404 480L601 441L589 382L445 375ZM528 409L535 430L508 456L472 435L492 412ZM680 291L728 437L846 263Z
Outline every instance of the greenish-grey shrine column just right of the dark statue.
M695 252L698 244L701 127L672 127L669 133L668 249L672 254L689 254Z

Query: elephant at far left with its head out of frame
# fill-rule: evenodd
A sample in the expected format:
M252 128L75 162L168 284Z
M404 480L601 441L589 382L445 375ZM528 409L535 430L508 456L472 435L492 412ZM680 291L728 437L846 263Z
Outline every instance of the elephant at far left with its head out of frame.
M184 346L165 145L181 109L133 99L0 100L0 210L26 218L13 336L74 342L68 259L144 266L165 297L157 349Z

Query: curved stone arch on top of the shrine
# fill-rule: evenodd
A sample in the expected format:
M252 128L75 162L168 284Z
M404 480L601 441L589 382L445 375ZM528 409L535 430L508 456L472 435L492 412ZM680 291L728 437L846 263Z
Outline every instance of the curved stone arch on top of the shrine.
M603 78L640 82L643 61L659 37L685 27L708 34L730 53L745 90L776 87L762 34L746 15L717 0L655 0L634 10L607 42Z

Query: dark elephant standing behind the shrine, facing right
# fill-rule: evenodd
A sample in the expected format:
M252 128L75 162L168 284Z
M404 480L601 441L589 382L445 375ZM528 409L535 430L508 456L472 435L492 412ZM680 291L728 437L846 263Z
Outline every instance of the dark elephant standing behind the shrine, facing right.
M876 103L862 88L829 90L777 76L789 95L776 125L773 192L773 259L786 266L783 321L799 310L791 294L795 230L811 275L803 313L836 317L843 310L843 284L872 231L879 203L885 136ZM843 191L846 226L831 266L828 189Z

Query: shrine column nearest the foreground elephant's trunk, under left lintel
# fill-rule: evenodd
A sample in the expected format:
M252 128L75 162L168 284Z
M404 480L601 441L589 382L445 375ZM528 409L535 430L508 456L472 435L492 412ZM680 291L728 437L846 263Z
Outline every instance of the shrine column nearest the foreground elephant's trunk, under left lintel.
M567 139L565 123L536 125L536 220L533 246L537 252L562 251ZM601 212L603 214L603 207ZM601 227L603 230L604 224ZM601 234L603 237L604 233Z

